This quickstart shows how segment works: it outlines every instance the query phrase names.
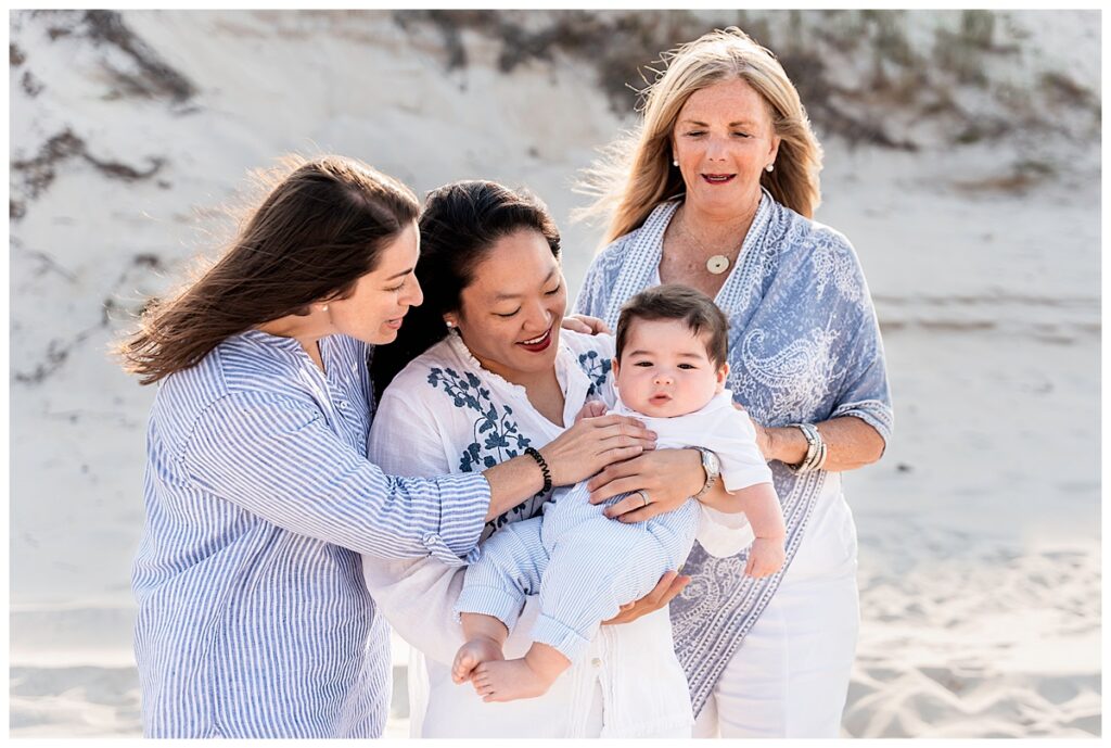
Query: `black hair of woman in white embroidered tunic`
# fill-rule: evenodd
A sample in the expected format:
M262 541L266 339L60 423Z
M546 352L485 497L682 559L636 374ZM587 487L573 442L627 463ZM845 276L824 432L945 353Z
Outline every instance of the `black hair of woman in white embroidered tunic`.
M460 297L474 280L474 269L499 239L522 229L543 236L559 259L559 229L547 206L531 192L467 180L428 193L420 216L416 270L424 302L406 315L397 340L374 349L370 373L376 392L384 390L409 361L447 337L443 316L459 311Z

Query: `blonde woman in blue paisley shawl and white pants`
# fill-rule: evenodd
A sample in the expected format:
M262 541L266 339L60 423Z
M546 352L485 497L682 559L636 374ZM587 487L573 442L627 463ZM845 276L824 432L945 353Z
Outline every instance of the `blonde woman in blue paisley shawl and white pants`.
M852 246L809 220L821 151L774 57L734 28L664 59L640 128L589 172L610 243L575 310L612 326L633 293L679 282L729 316L729 387L764 427L788 566L753 580L744 553L688 559L671 620L695 735L837 737L859 627L840 472L891 433L879 326Z

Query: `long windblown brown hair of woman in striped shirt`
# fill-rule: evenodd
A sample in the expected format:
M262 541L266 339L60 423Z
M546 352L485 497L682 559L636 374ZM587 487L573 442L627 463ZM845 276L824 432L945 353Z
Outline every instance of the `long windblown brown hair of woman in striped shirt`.
M216 265L149 305L117 346L143 385L197 365L230 336L347 298L420 210L412 190L357 159L287 157L267 179L269 195Z

